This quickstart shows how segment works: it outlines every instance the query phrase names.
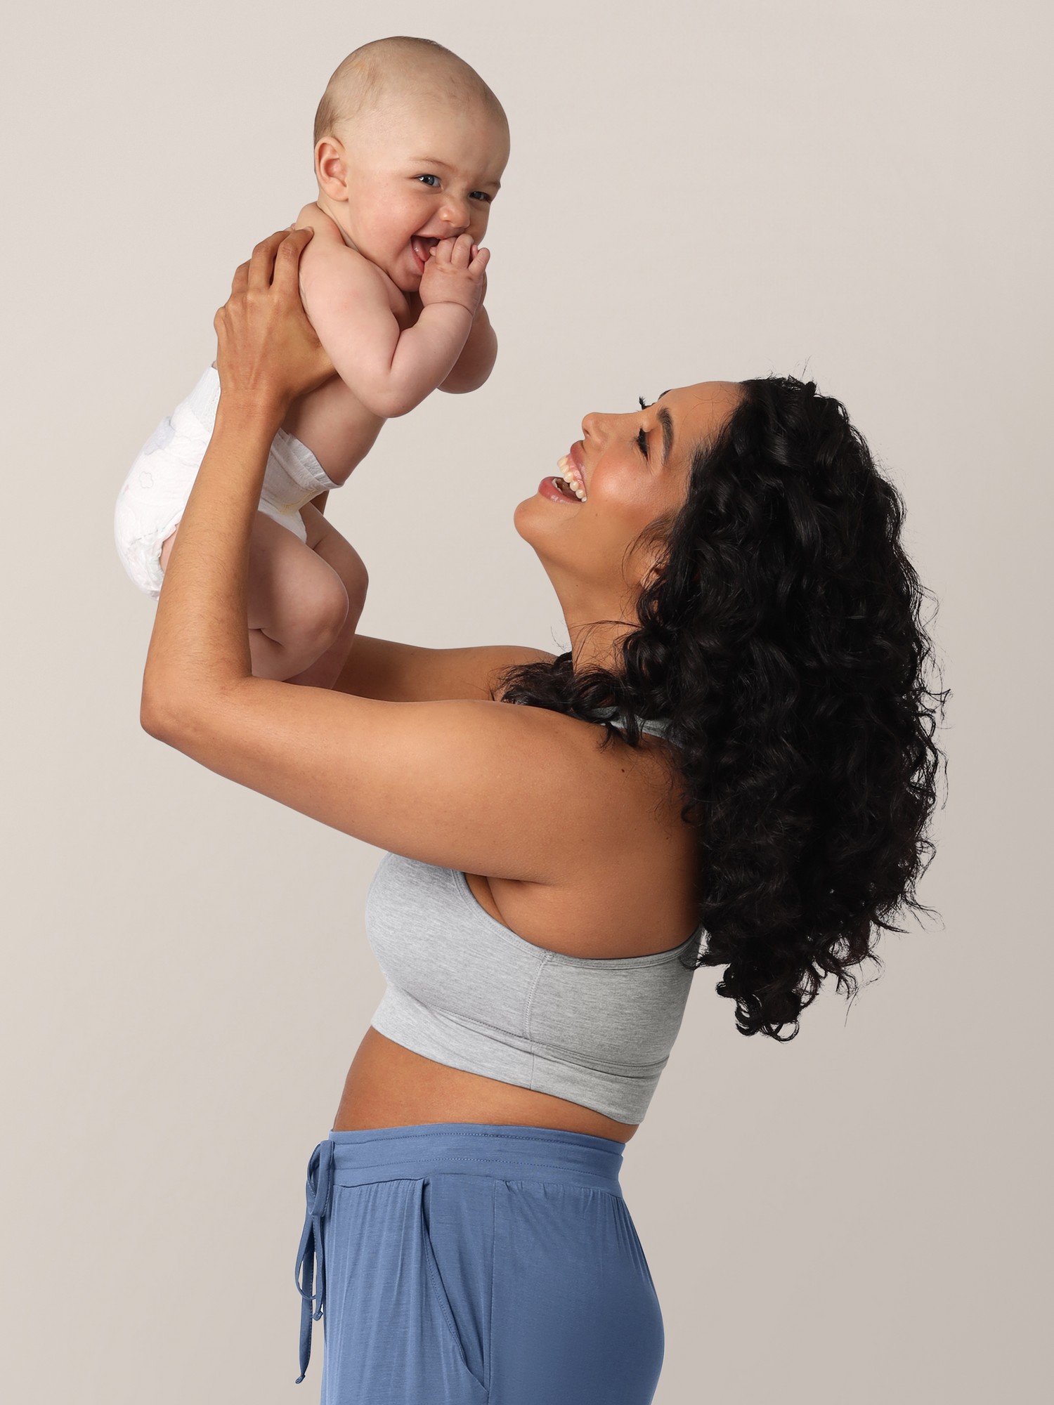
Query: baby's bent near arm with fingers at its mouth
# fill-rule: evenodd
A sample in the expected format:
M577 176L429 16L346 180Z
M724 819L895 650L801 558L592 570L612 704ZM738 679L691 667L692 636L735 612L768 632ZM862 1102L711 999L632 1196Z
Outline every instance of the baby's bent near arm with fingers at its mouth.
M406 414L447 379L479 306L486 260L467 235L443 240L422 277L420 316L401 330L385 275L343 242L318 240L302 264L304 305L337 375L371 413Z

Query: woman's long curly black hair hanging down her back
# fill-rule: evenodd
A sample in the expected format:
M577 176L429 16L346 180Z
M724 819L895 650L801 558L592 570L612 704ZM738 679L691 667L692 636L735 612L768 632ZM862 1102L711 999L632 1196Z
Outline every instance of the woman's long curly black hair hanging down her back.
M564 653L510 669L499 695L631 746L638 718L669 722L698 832L694 965L725 968L743 1034L788 1040L825 976L852 996L880 933L925 910L946 693L904 502L845 406L791 377L741 385L694 452L618 669Z

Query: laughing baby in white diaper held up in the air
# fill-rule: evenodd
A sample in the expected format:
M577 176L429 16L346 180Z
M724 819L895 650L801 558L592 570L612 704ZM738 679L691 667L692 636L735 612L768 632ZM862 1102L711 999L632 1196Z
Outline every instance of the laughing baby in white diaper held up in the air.
M429 39L378 39L340 65L315 118L319 198L297 228L301 296L336 377L274 438L249 556L257 677L330 687L365 600L365 568L323 517L386 419L437 386L475 391L497 340L479 247L509 125L478 73ZM117 548L157 596L219 400L211 367L143 445L117 500Z

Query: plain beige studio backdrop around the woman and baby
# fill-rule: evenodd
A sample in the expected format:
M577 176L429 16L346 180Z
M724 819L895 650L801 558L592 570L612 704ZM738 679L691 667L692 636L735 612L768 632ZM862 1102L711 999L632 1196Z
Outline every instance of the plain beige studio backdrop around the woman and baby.
M4 1354L20 1405L294 1390L308 1154L381 996L377 851L136 722L117 488L312 197L330 70L392 30L507 107L490 382L392 423L333 517L364 625L545 645L512 507L589 409L807 370L909 504L954 690L923 888L797 1044L714 975L625 1163L658 1405L981 1405L1048 1384L1050 7L176 0L6 22Z

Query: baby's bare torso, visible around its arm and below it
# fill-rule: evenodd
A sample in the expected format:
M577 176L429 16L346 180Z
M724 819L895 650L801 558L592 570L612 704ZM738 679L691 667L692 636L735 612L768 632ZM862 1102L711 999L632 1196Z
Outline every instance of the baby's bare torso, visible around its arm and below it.
M297 216L297 228L306 226L315 230L315 237L304 251L302 266L311 260L312 251L316 259L346 256L368 263L354 249L347 247L334 222L315 204L305 205ZM399 329L413 326L420 315L419 298L415 295L408 299L381 268L374 264L368 267L377 273ZM354 391L334 375L318 391L292 405L282 429L301 444L306 444L334 483L343 483L374 447L382 424L384 419L368 410Z

